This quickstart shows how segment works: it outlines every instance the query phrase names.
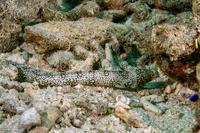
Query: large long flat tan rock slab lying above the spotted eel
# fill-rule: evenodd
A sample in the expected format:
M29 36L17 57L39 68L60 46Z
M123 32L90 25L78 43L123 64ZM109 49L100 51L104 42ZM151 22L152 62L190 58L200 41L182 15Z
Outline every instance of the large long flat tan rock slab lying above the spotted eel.
M45 53L53 49L69 50L79 44L91 50L98 49L116 36L120 43L129 43L125 39L129 29L97 18L82 18L78 21L46 22L25 28L26 42L35 42L35 50Z

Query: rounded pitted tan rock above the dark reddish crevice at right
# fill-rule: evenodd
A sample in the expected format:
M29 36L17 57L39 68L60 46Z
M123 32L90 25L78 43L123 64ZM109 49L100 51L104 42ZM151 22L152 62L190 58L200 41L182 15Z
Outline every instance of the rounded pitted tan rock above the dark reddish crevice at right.
M196 32L183 25L157 25L149 37L153 55L165 53L171 61L176 61L194 52Z

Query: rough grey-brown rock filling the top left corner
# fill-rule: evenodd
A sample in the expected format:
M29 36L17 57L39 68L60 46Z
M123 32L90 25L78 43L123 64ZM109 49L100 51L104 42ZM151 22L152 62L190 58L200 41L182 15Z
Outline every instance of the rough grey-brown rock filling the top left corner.
M51 0L2 0L0 18L19 23L21 26L32 19L38 18L38 12L45 6L56 10L58 4ZM3 17L4 16L4 17Z

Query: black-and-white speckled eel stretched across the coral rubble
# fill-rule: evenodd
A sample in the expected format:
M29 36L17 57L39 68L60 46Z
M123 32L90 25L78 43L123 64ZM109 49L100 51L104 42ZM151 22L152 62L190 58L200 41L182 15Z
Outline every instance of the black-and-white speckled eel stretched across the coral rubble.
M24 65L11 62L18 68L18 80L38 82L43 86L61 85L92 85L111 86L116 88L134 88L152 80L156 71L151 69L136 69L135 71L73 71L73 72L45 72Z

